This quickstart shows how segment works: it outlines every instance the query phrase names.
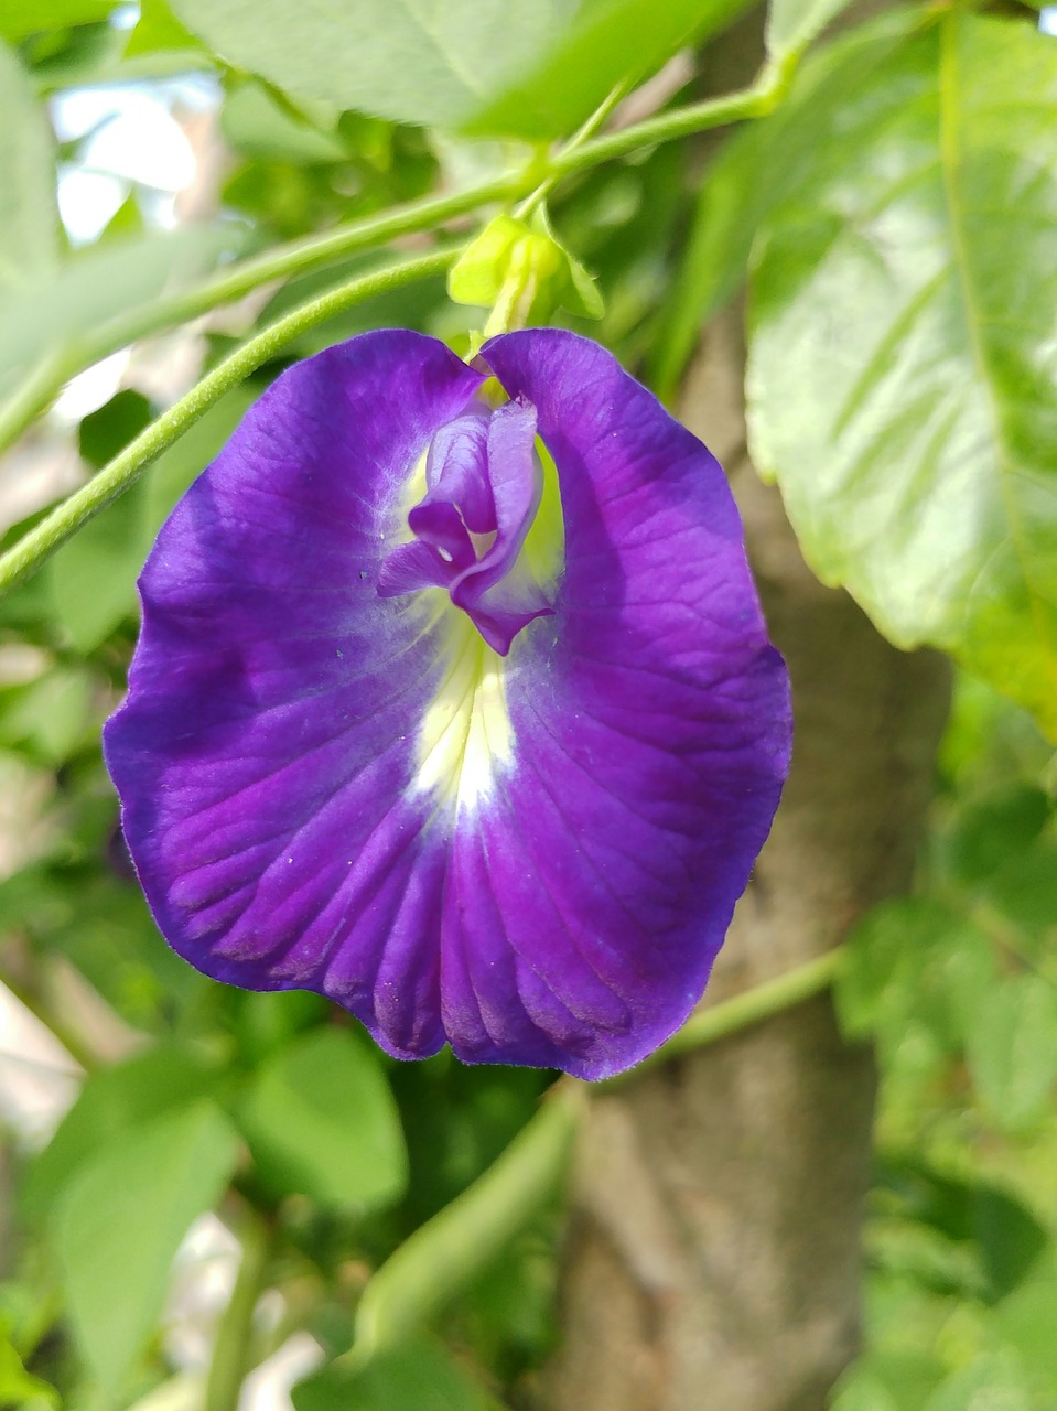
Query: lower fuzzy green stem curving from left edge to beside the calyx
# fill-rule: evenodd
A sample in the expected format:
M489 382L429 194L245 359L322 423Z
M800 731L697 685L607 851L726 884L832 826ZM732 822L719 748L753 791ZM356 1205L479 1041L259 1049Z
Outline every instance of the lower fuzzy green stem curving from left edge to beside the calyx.
M312 299L250 339L223 363L219 363L212 373L207 373L186 396L162 412L157 422L152 422L147 430L130 442L121 454L104 466L97 476L93 476L86 485L69 499L64 499L6 555L0 556L0 595L38 569L80 525L128 490L147 466L179 440L183 432L215 402L219 402L224 392L243 382L299 334L364 299L399 289L415 279L440 274L460 253L461 247L437 251L419 260L408 260L404 264L363 275Z

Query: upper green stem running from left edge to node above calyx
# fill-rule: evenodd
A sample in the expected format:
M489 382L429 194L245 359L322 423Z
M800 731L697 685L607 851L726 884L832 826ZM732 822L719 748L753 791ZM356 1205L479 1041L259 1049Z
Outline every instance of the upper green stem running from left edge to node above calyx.
M536 168L532 168L533 174ZM291 275L308 274L360 250L387 244L398 236L437 230L454 216L466 214L494 200L512 199L526 185L525 176L500 176L452 196L411 202L384 216L350 220L322 236L292 240L222 270L191 289L154 299L109 319L92 333L48 354L18 391L0 408L0 452L11 446L25 428L51 405L64 385L78 373L162 329L188 323L223 303Z

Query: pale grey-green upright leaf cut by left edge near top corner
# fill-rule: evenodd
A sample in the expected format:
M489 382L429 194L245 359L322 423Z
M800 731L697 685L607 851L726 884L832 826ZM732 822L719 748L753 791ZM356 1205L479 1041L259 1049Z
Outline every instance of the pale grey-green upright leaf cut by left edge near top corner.
M0 10L0 34L3 20ZM0 289L52 274L58 219L51 127L21 63L0 44Z

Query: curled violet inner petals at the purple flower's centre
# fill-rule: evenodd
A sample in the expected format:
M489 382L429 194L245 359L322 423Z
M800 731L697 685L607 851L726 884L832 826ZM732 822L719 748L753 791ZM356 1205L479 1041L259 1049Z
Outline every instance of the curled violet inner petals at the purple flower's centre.
M535 439L536 409L525 401L470 412L436 433L426 494L408 515L415 538L382 563L380 597L447 588L501 656L533 618L553 614L521 556L543 484Z

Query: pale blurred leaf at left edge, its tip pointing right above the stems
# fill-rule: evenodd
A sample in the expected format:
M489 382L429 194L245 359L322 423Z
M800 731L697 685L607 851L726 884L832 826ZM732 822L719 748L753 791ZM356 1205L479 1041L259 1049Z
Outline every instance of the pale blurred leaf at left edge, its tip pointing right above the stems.
M54 278L0 296L0 391L55 349L192 282L241 241L230 226L107 241L76 253Z

